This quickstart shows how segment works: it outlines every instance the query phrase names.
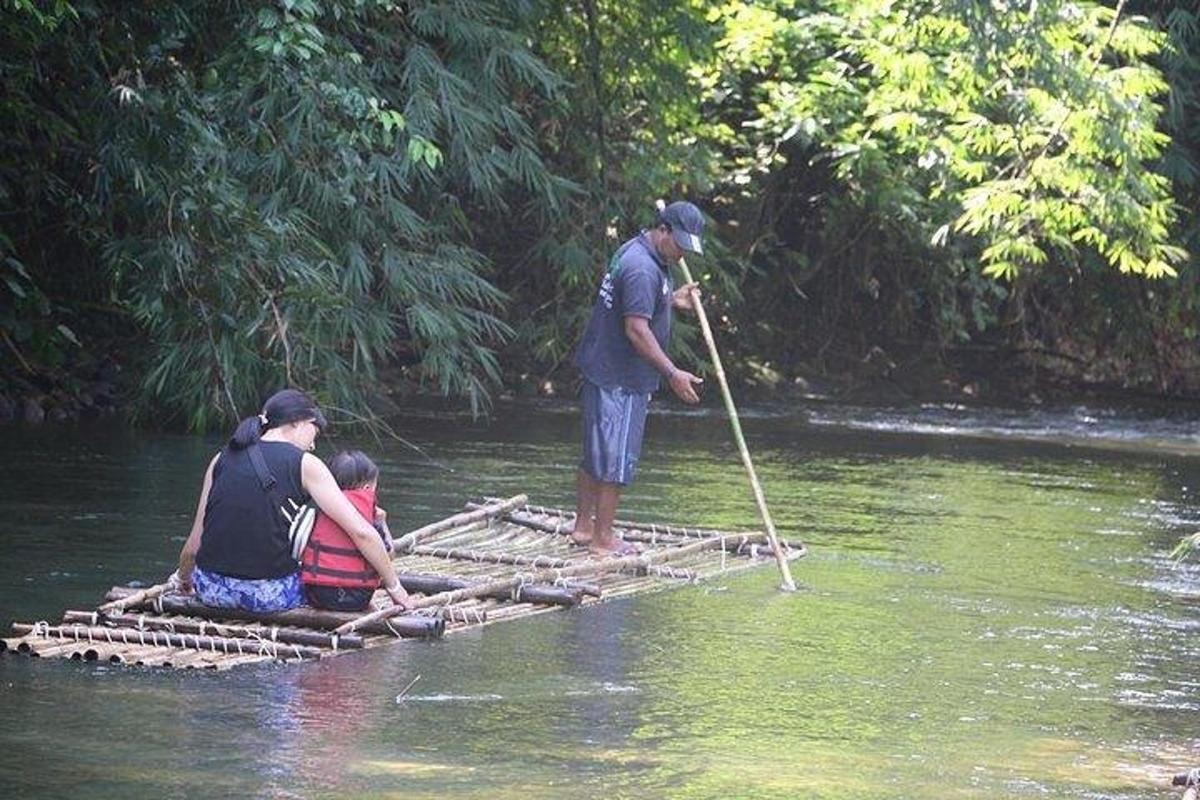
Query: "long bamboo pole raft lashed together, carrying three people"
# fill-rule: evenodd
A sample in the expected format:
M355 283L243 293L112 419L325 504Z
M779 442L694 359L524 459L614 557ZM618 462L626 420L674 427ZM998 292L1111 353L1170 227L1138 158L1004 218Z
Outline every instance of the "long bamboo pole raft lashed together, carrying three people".
M13 624L0 652L188 669L311 661L696 583L773 560L761 533L629 521L617 521L616 534L642 552L595 558L571 542L574 517L530 505L524 495L488 498L406 534L396 541L395 564L416 608L402 615L308 607L260 614L212 608L166 584L115 587L94 610L67 610L56 624ZM781 546L788 559L806 553L802 543ZM373 604L391 603L380 590Z

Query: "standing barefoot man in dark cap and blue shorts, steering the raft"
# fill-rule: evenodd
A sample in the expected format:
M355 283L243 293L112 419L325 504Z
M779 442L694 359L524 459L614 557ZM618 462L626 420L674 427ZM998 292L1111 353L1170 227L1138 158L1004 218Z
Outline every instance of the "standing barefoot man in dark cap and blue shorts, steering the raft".
M595 555L628 555L632 545L612 533L620 491L637 470L650 395L659 377L684 403L698 403L700 378L671 362L672 308L690 309L695 283L674 289L671 266L684 252L703 253L704 218L691 203L662 209L658 225L613 254L575 363L583 373L583 458L575 531Z

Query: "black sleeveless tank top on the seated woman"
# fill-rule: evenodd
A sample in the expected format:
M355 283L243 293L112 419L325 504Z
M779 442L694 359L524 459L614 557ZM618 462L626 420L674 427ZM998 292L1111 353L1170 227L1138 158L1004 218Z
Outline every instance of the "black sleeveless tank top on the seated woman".
M300 479L304 451L286 441L260 441L258 447L275 475L277 494L296 504L305 503L308 497ZM250 455L226 447L212 468L197 566L256 581L282 578L299 570L292 558L287 521L272 505L258 482Z

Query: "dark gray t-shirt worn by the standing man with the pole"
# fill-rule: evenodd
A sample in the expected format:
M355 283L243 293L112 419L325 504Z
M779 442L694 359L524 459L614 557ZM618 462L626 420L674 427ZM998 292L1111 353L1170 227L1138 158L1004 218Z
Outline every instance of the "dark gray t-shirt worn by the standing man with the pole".
M608 263L575 356L583 377L601 389L658 390L659 373L625 336L625 317L648 319L659 347L666 350L673 290L671 271L654 252L646 231L622 245Z

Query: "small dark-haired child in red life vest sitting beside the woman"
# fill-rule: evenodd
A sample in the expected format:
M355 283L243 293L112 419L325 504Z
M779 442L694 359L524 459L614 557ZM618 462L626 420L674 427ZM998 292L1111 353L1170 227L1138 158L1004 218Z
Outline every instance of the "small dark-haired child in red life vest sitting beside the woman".
M391 553L388 515L376 505L379 481L376 463L358 450L348 450L334 456L329 471L346 499L365 519L374 523L384 548ZM349 535L325 515L317 517L308 537L300 561L300 581L308 604L329 610L362 610L379 588L379 575L362 558Z

